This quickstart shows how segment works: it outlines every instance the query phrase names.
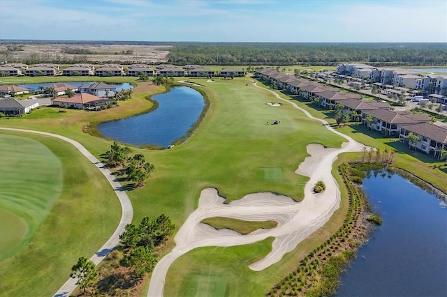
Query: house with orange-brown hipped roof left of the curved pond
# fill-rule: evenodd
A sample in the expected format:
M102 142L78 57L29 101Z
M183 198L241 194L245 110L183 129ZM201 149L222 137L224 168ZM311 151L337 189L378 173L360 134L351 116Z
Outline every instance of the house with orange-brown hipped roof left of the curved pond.
M94 109L99 110L104 105L110 105L114 100L91 95L89 93L77 93L70 98L57 97L51 100L54 106L65 106L74 109Z

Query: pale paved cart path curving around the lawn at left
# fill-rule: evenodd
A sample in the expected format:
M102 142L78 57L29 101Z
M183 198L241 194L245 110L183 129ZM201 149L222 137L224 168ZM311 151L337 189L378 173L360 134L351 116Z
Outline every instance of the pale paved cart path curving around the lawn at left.
M124 227L126 227L126 224L131 224L132 217L133 217L133 209L131 201L129 200L129 197L127 196L126 192L122 188L122 185L117 181L115 176L112 175L112 172L110 172L109 169L107 169L103 163L101 163L94 155L92 155L89 151L87 151L87 148L82 146L79 142L76 142L73 139L70 139L68 137L64 137L61 135L48 133L48 132L41 132L41 131L35 131L35 130L23 130L23 129L15 129L15 128L2 128L0 127L0 130L10 130L10 131L19 131L19 132L29 132L29 133L36 133L41 135L47 135L55 138L62 139L66 142L69 142L75 146L75 148L78 148L78 151L80 151L87 159L90 160L107 178L110 185L112 185L113 190L115 191L115 194L117 195L119 202L121 203L122 207L122 216L121 220L119 221L117 229L115 229L115 232L110 236L108 241L104 243L104 245L101 247L101 249L98 250L91 258L90 260L94 262L95 265L98 265L99 262L101 262L109 252L112 251L115 246L119 243L119 235L124 232ZM75 263L73 263L74 265ZM68 275L67 275L68 276ZM54 294L54 297L62 297L62 296L70 296L70 294L75 290L77 287L76 281L73 278L69 278L65 284Z

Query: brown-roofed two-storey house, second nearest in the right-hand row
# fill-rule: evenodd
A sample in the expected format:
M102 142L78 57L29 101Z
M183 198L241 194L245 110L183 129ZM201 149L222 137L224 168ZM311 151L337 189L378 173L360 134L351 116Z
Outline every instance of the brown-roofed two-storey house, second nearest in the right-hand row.
M373 122L367 121L368 116L372 117ZM385 136L398 137L400 129L404 125L414 123L428 123L430 118L426 114L412 114L411 112L395 112L387 109L373 109L362 111L362 123L368 128L383 132Z

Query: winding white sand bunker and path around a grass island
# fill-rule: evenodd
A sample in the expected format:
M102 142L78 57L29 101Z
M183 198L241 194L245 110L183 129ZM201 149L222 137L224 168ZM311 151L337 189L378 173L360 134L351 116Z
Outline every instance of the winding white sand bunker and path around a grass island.
M256 86L256 82L254 85ZM273 91L270 92L279 100L284 100ZM298 107L295 102L284 101L305 112L310 118L316 119L305 109ZM175 235L175 248L156 265L149 284L148 296L163 296L164 280L170 264L194 248L245 245L273 236L275 239L272 243L272 251L249 266L254 271L261 271L280 261L284 254L293 250L298 243L328 222L340 205L340 191L335 178L331 175L332 164L339 153L363 151L364 146L351 137L335 131L326 121L316 120L321 121L325 128L349 142L345 142L341 148L325 148L321 144L307 146L310 156L295 172L309 176L304 190L305 198L300 202L295 202L290 197L263 192L246 195L230 204L223 204L225 199L218 195L216 189L202 190L198 208L189 215ZM325 191L319 194L313 191L317 181L323 181L326 185ZM251 234L242 235L228 229L216 230L200 223L201 220L212 217L247 221L274 220L278 222L278 225L272 229L258 229Z

